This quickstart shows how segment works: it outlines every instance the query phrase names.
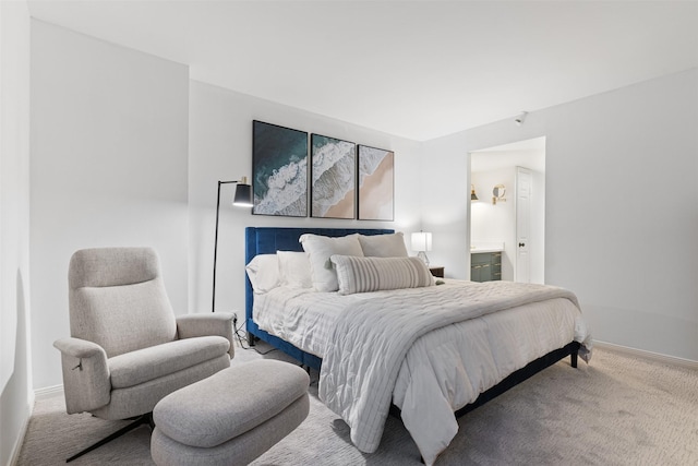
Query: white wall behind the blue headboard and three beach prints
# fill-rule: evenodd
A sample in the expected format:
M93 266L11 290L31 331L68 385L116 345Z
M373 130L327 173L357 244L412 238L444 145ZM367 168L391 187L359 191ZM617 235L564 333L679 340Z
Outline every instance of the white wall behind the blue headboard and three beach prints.
M221 189L216 310L244 316L244 228L248 226L420 229L422 145L339 120L191 82L190 97L190 308L210 311L218 180L252 175L252 120L395 151L395 222L252 215L230 206L234 186ZM408 244L409 248L409 244Z

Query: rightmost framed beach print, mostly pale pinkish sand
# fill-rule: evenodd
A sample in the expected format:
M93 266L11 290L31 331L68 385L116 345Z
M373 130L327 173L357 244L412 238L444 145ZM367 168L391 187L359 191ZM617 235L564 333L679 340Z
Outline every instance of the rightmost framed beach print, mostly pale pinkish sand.
M359 219L394 219L395 153L359 145Z

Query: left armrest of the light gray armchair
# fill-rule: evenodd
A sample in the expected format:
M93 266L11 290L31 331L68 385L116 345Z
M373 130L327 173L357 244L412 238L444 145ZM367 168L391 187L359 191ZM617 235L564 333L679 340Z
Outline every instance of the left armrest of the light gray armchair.
M73 337L57 339L53 346L61 351L68 414L107 405L111 399L111 381L104 348Z

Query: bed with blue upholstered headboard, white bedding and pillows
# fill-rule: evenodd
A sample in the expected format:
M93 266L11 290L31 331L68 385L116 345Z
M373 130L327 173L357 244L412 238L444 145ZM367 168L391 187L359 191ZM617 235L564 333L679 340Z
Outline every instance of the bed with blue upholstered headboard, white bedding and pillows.
M351 243L332 254L334 268L323 264L335 274L335 288L316 282L318 263L312 277L298 265L302 258L311 264L318 258L311 240L344 244L357 235L363 250L356 253ZM566 356L576 367L578 354L588 358L591 338L568 290L435 280L419 260L392 258L407 255L406 250L372 256L399 243L398 235L390 229L246 228L245 263L277 261L279 274L286 270L288 277L292 271L298 283L263 286L249 266L245 325L251 343L262 339L320 370L318 396L349 425L359 450L377 449L393 411L430 465L456 434L455 416ZM311 252L302 253L303 246ZM373 253L362 254L366 248ZM369 270L381 273L369 279Z

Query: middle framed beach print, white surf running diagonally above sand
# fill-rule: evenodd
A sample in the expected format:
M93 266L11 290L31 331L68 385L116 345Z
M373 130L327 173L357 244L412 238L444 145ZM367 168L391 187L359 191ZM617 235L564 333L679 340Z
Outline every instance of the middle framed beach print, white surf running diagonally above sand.
M357 144L310 136L310 216L356 218Z

